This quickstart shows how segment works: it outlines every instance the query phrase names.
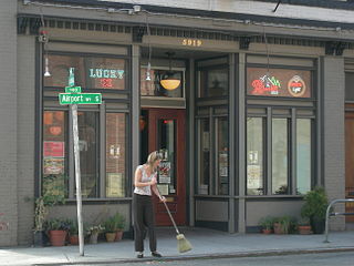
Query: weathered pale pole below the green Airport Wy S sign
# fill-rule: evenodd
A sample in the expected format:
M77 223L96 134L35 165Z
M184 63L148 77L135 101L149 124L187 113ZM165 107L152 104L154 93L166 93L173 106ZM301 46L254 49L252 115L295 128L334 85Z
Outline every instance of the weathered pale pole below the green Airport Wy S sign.
M74 162L75 162L75 182L76 182L76 204L77 204L77 225L79 225L79 250L80 256L84 256L84 232L82 221L82 195L81 195L81 171L80 171L80 147L77 130L77 104L71 105L73 117L73 137L74 137Z

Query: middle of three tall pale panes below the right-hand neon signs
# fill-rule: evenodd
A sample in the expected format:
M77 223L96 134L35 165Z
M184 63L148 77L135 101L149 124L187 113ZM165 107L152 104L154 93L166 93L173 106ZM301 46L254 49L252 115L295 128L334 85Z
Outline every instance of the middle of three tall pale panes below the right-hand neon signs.
M288 194L288 119L272 119L272 194Z

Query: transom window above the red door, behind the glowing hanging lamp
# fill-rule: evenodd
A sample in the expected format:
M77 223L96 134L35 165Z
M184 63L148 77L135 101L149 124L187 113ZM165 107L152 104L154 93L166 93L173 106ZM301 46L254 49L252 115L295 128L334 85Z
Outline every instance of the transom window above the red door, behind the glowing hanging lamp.
M184 98L184 71L173 71L174 78L180 80L180 84L175 90L166 90L162 86L160 80L167 73L167 70L152 69L147 80L147 68L140 69L140 94L142 96L164 96L164 98Z

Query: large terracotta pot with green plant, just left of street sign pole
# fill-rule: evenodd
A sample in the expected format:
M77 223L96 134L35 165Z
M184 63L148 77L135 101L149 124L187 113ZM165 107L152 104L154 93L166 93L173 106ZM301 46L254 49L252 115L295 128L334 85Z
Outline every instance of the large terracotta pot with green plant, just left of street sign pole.
M44 223L52 246L64 246L70 221L61 218L48 219Z

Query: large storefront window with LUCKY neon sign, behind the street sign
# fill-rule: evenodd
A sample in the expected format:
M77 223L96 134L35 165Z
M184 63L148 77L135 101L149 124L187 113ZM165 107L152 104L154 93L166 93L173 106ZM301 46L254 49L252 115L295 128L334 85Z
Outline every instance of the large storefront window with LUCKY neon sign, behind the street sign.
M43 88L43 171L42 187L59 190L75 197L73 140L67 105L60 105L58 92L64 92L70 69L82 93L102 93L102 105L79 105L79 145L82 196L116 198L127 195L126 145L129 136L128 60L94 55L49 54L51 76ZM119 90L119 92L118 92Z

